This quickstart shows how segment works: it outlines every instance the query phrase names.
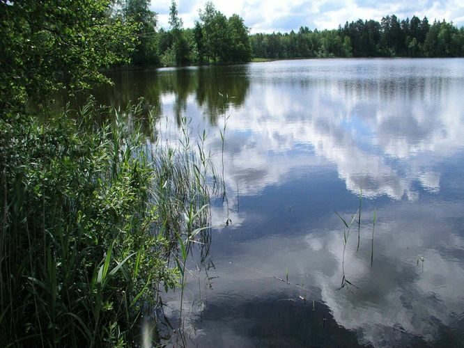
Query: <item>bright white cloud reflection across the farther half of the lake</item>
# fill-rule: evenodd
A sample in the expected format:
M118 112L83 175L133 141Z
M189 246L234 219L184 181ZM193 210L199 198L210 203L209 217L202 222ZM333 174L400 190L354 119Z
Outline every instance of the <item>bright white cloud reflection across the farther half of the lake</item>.
M236 187L240 195L256 195L310 166L330 164L350 191L362 187L366 197L416 200L415 182L427 191L440 191L438 161L462 149L461 85L448 77L419 78L418 72L402 70L399 64L390 68L392 77L376 83L369 78L353 82L358 68L351 61L337 75L325 72L314 78L314 72L302 70L290 79L293 83L258 79L249 90L254 97L228 111L223 155L229 196ZM279 65L274 69L279 71ZM409 76L399 79L401 74ZM268 75L276 74L266 70ZM176 97L167 93L161 100L171 104ZM187 104L194 104L192 95ZM172 106L164 109L169 112ZM192 121L194 128L203 123L202 118ZM222 122L219 117L217 127ZM158 127L166 125L160 122ZM219 129L205 127L210 127L212 161L222 172ZM295 151L302 146L307 150Z

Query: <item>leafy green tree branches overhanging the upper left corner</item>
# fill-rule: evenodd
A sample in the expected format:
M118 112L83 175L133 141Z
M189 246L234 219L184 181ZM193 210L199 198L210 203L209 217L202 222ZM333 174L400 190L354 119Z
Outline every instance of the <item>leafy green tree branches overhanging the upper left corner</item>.
M0 1L0 109L42 102L56 90L107 82L102 68L127 62L137 25L109 0ZM8 67L8 68L6 68Z

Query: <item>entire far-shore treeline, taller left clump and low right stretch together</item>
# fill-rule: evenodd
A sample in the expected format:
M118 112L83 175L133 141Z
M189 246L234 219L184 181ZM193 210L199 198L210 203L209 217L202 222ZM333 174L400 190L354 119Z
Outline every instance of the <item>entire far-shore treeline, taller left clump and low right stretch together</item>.
M159 29L149 0L119 0L114 13L136 22L137 47L132 64L180 66L203 63L247 63L252 58L311 57L455 57L464 56L464 28L427 17L379 22L358 19L339 29L318 31L302 26L290 33L257 33L239 15L227 18L207 2L194 28L183 28L175 0L171 0L169 29Z

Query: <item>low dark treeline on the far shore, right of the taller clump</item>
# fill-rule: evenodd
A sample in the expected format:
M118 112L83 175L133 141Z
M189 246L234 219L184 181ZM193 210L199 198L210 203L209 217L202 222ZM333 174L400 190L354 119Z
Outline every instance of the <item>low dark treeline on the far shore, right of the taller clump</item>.
M456 57L464 56L464 28L427 17L400 20L396 15L358 19L339 29L250 35L255 58Z

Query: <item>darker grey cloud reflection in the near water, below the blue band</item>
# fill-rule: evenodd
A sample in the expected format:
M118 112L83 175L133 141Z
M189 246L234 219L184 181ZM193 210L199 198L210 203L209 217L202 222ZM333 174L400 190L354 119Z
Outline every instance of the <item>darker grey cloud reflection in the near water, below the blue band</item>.
M360 343L405 347L417 337L433 344L440 338L440 325L453 327L464 314L464 294L458 291L464 286L464 260L453 256L463 255L464 243L451 223L462 210L462 203L449 202L433 206L400 202L384 207L378 212L373 267L371 230L369 221L364 220L359 251L357 234L352 231L344 258L346 278L357 287L352 287L353 292L337 290L342 277L343 229L336 216L327 216L311 230L304 228L308 221L300 221L300 230L291 235L235 242L226 258L216 253L217 268L208 276L217 278L213 289L208 290L206 284L201 290L201 306L194 290L198 285L191 282L186 300L190 306L185 306L191 310L185 314L190 318L189 332L196 332L196 325L201 326L202 335L222 330L220 320L207 326L195 323L212 303L216 308L229 308L227 315L234 320L236 335L252 338L244 329L249 317L240 317L227 303L238 308L250 299L274 299L282 290L292 294L292 285L274 278L285 278L288 269L291 283L303 282L311 289L307 301L329 306L337 324L355 330ZM364 216L372 214L364 212ZM420 226L416 221L422 221ZM419 255L424 258L423 268L421 263L417 265ZM293 297L298 301L297 295ZM177 308L178 303L173 301L169 307Z

